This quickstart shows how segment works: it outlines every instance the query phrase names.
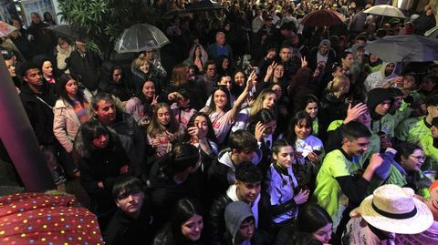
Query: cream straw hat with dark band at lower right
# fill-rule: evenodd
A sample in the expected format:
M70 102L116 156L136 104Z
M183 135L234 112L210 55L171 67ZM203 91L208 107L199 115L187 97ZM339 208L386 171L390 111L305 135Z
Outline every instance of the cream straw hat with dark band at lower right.
M410 188L381 186L360 203L360 214L379 230L397 234L420 233L431 227L433 214L413 195L414 191Z

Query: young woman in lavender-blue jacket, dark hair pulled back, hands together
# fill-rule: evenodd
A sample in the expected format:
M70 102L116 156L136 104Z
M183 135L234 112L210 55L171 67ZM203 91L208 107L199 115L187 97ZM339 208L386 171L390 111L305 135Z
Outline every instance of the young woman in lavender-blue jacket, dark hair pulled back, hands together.
M295 150L285 139L278 139L272 147L271 164L267 176L267 193L271 197L274 223L284 226L297 217L298 205L308 201L308 189L297 189L298 183L292 170ZM297 193L297 194L294 194Z

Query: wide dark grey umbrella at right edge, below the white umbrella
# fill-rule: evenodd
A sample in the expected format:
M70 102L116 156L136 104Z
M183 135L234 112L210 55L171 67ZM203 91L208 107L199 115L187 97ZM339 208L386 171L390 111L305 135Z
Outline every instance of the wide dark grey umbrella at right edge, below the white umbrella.
M365 50L388 62L423 62L438 59L438 41L418 35L385 36Z

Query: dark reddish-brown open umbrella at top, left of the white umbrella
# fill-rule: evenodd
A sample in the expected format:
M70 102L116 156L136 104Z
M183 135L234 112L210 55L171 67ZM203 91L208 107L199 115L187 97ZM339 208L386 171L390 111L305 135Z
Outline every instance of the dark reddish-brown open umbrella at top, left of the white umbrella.
M344 15L331 9L321 9L308 13L301 20L303 26L333 26L345 21Z

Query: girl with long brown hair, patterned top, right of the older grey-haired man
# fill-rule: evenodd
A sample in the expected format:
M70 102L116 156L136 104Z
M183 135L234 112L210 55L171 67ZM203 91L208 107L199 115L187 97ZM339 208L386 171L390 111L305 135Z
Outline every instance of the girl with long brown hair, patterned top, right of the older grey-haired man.
M166 103L159 103L153 109L151 124L147 130L148 142L155 148L155 157L161 158L172 150L172 143L183 133L183 127L173 117L172 109Z

